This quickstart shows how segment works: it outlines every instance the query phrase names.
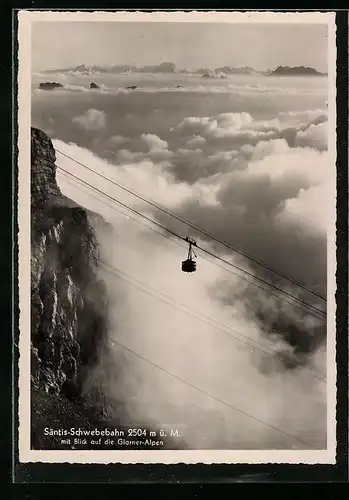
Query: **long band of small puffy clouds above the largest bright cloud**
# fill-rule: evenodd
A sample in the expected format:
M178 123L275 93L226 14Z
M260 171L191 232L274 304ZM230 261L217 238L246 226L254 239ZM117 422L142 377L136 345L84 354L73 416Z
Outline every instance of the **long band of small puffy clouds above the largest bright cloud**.
M302 117L310 122L301 122ZM320 111L283 113L280 120L266 121L255 120L249 113L188 117L171 129L168 141L155 134L141 134L133 138L132 151L115 144L113 156L119 163L147 158L155 163L166 162L175 178L193 184L219 173L244 169L249 161L275 154L276 148L289 152L290 147L309 144L325 151L326 122L322 120ZM317 127L319 130L313 130ZM124 146L121 141L119 144Z

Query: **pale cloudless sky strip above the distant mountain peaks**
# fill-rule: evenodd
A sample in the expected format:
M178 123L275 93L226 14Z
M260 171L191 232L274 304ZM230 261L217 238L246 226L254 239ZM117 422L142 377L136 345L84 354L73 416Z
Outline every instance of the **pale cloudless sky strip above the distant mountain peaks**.
M86 65L177 68L311 66L327 72L327 26L150 22L35 22L32 70Z

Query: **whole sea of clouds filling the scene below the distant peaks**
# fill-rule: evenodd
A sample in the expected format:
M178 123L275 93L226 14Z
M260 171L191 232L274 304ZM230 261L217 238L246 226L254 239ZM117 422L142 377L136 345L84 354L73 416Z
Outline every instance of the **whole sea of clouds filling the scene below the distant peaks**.
M34 96L33 125L92 171L59 152L58 166L109 195L58 171L65 194L112 223L99 234L119 276L102 271L110 337L153 363L115 348L109 392L134 421L184 423L190 447L324 447L324 321L200 251L197 272L182 273L185 245L111 198L315 307L324 302L95 172L326 295L335 179L326 92L234 81L195 97L182 83Z

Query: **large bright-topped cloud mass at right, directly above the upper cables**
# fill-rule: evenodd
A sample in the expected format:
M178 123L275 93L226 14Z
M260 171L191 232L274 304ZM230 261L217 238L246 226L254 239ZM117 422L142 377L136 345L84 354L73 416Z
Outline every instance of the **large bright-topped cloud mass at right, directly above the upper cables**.
M283 224L278 221L280 214L287 214L290 203L294 204L299 196L303 199L309 188L326 183L331 175L326 152L290 148L285 141L278 140L263 147L259 145L254 153L247 166L222 177L214 210L192 199L180 208L181 213L231 245L259 255L262 262L284 269L286 274L301 282L308 281L325 293L325 240L318 232L304 240L301 217L297 224L294 217L292 223L286 223L286 215ZM328 197L315 201L329 210ZM307 213L303 215L313 219ZM307 258L303 268L298 259L302 259L304 252Z

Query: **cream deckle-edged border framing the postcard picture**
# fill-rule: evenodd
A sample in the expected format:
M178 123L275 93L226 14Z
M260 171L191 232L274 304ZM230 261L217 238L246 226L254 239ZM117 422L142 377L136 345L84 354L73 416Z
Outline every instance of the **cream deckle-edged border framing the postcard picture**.
M336 24L334 12L30 11L18 13L18 225L19 225L19 462L74 464L335 464L336 463L336 178L328 233L327 449L326 450L72 450L30 448L30 124L31 25L33 22L234 22L328 26L328 150L336 164Z

